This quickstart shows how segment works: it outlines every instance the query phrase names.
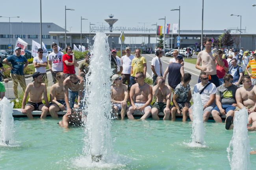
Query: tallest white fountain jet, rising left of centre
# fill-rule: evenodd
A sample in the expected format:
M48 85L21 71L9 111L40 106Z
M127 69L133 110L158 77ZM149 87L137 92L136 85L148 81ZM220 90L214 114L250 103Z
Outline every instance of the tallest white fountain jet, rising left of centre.
M85 84L85 146L83 153L93 162L107 161L112 153L110 135L111 95L110 51L105 33L97 32L91 49L89 72Z

